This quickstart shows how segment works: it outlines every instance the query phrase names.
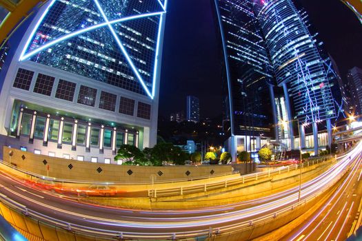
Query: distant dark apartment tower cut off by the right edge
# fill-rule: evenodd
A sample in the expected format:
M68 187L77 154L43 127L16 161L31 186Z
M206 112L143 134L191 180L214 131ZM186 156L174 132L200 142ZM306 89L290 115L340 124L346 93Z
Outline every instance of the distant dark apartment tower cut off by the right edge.
M362 69L352 67L347 74L348 84L350 86L351 101L355 115L362 114Z

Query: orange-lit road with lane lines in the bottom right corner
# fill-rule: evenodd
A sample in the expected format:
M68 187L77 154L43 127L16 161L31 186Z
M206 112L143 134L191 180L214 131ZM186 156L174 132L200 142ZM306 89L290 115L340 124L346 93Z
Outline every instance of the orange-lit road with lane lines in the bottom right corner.
M283 240L346 240L361 225L362 155L321 209Z

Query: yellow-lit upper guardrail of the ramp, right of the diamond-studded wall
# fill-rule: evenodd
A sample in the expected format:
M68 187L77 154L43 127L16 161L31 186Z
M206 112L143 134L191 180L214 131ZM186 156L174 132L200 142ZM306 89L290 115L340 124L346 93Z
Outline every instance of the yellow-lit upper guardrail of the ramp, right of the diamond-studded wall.
M212 183L205 183L203 185L194 185L194 186L187 186L187 187L177 187L177 188L170 188L170 189L149 189L148 196L152 198L160 198L166 196L179 196L191 193L199 193L199 192L206 192L211 191L213 189L221 189L227 188L234 185L243 185L245 182L252 182L257 181L262 178L271 178L272 176L276 176L279 174L288 173L289 171L294 171L303 167L310 167L312 165L316 165L318 163L323 163L327 160L333 160L332 156L317 158L308 160L308 162L298 163L295 165L288 165L283 166L275 169L268 169L268 171L261 171L254 174L247 174L243 175L239 178L230 178L227 180L219 181L219 182L212 182Z

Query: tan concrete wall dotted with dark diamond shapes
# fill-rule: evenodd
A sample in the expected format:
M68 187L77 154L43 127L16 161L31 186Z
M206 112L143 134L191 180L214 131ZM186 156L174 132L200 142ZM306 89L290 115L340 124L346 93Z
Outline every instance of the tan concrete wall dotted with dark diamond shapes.
M13 155L9 156L9 151ZM104 163L86 163L78 160L55 158L32 154L4 146L3 160L20 169L35 174L70 180L90 180L108 182L150 182L174 180L181 178L194 179L202 176L217 176L232 171L231 165L185 165L163 167L137 167L128 165L109 165ZM49 166L49 174L48 174Z

